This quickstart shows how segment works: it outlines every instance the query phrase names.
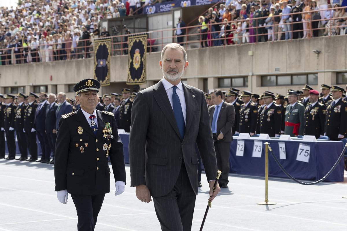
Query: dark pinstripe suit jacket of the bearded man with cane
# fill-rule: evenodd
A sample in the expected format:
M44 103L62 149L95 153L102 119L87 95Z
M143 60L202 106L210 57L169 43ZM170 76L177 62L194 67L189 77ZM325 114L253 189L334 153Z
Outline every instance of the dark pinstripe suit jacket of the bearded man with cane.
M197 194L197 143L208 180L217 174L210 116L204 92L183 85L187 108L184 139L162 82L137 93L129 137L131 185L146 184L152 196L167 195L174 187L182 159Z

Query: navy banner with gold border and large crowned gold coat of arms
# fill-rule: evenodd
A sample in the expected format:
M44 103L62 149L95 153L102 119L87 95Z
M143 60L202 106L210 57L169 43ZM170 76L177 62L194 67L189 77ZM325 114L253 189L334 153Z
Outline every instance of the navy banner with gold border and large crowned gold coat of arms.
M128 38L128 78L127 84L146 83L147 35Z

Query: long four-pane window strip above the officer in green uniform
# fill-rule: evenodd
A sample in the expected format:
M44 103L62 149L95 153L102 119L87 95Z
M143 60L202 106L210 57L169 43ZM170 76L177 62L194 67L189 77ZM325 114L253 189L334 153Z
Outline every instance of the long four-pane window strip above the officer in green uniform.
M299 75L264 75L261 77L263 87L280 85L318 85L318 74Z

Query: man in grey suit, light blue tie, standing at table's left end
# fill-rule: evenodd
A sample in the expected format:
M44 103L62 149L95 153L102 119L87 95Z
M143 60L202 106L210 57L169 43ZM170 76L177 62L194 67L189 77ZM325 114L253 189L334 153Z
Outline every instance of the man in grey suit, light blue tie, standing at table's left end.
M228 187L230 143L232 141L232 126L235 122L234 105L222 100L222 91L211 92L213 106L209 108L214 150L217 167L222 171L218 183L222 188Z

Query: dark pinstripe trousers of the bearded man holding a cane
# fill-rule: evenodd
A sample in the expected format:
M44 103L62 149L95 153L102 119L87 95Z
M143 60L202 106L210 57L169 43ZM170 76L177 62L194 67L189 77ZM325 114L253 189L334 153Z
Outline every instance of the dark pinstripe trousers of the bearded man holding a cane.
M165 196L153 196L155 213L160 222L161 230L192 230L195 199L196 195L183 164L171 192Z

